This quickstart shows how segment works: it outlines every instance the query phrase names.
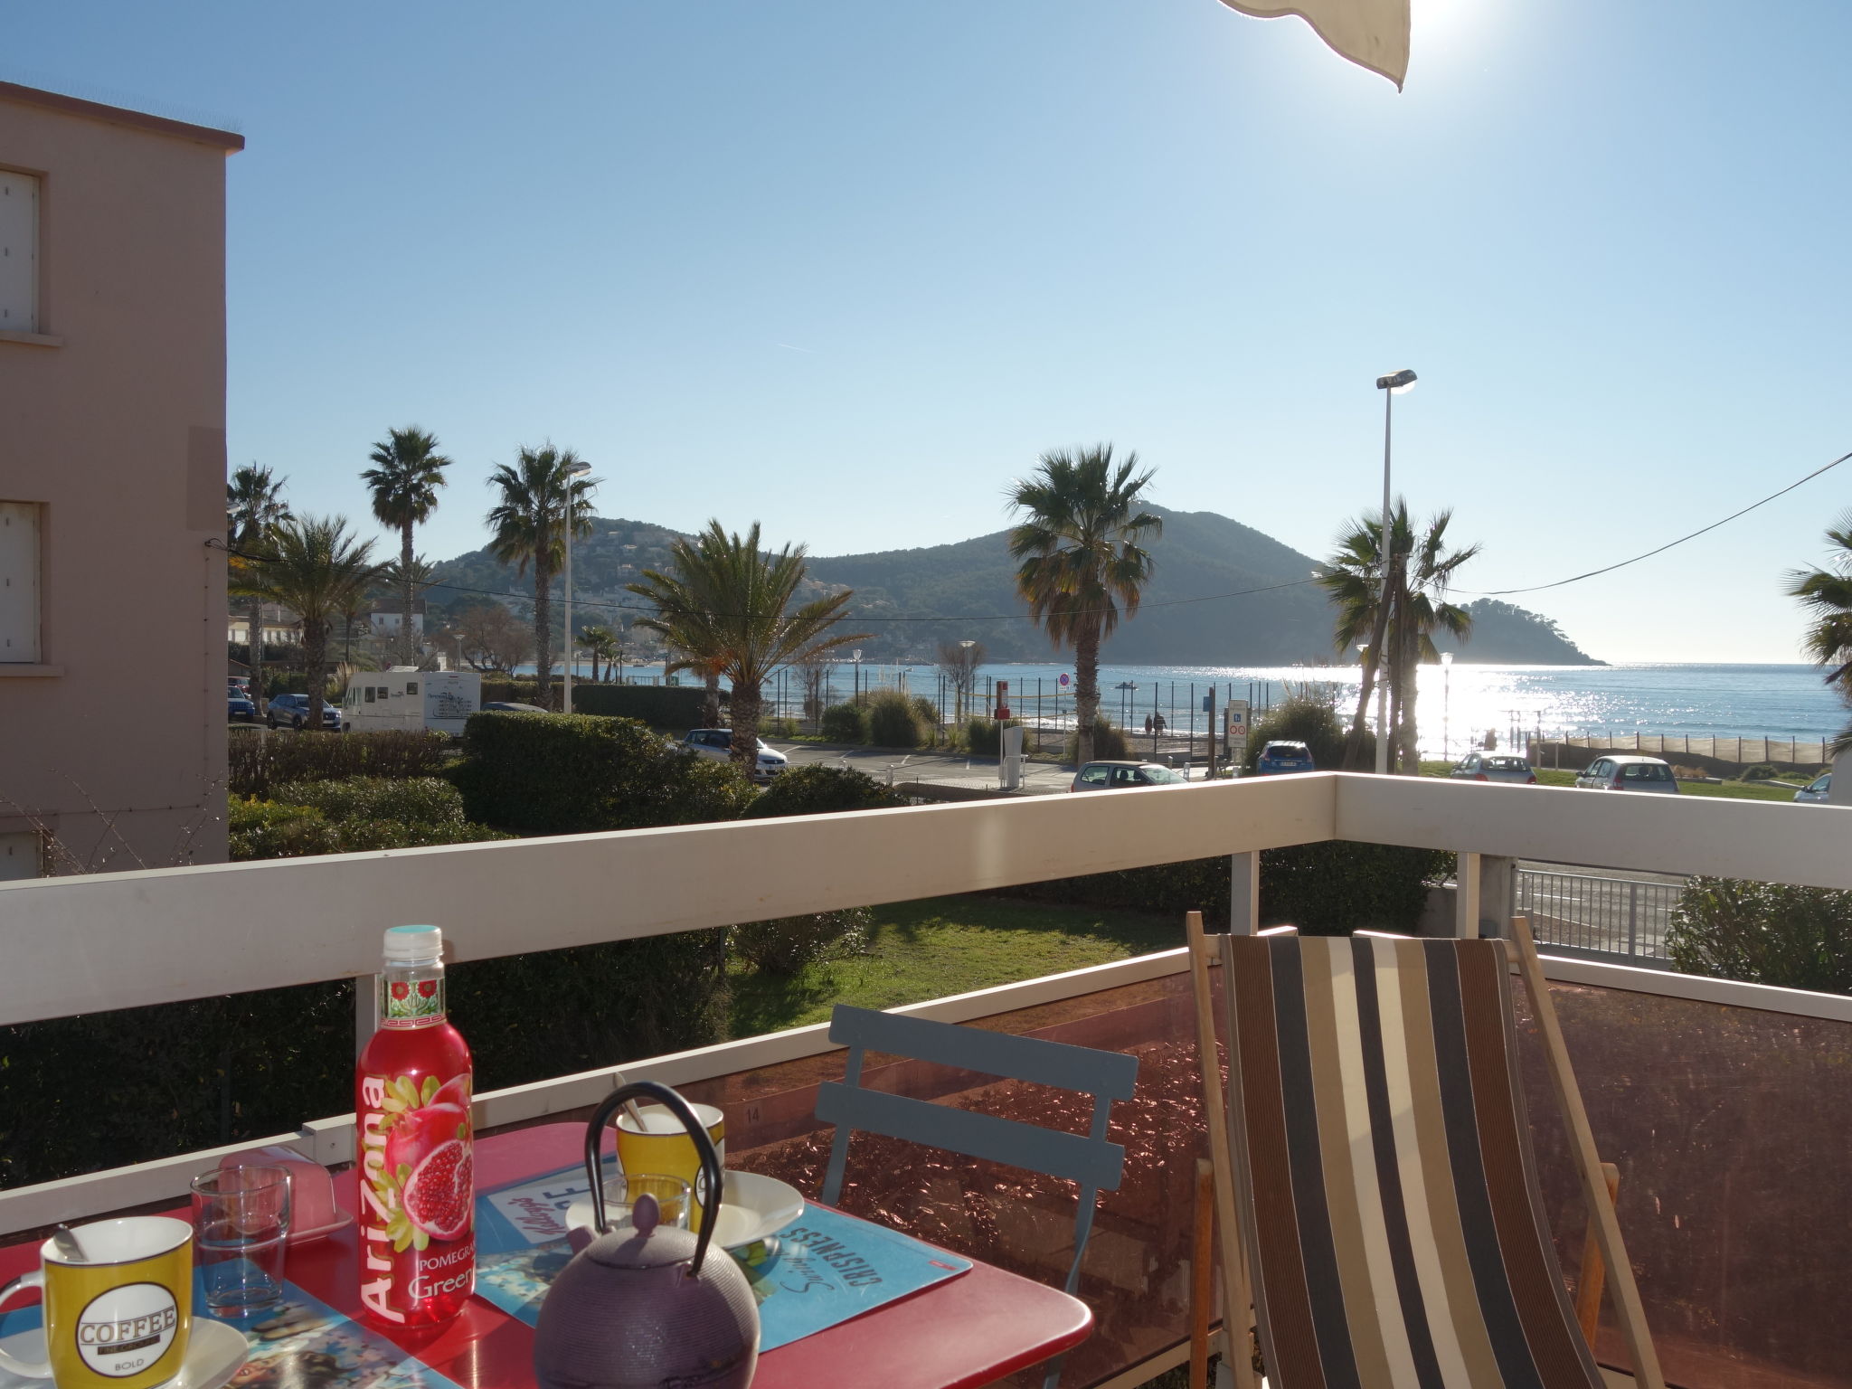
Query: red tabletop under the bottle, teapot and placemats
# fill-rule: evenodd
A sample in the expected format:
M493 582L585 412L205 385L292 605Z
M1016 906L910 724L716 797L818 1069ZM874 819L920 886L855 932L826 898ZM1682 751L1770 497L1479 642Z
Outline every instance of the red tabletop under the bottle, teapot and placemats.
M476 1141L476 1183L498 1187L570 1167L583 1152L583 1124L544 1124ZM354 1172L335 1180L354 1209ZM33 1245L0 1248L0 1282L33 1263ZM352 1226L289 1254L289 1280L348 1315L359 1309ZM1080 1345L1093 1313L1076 1298L972 1261L854 1320L759 1358L754 1389L976 1389ZM533 1383L533 1332L483 1298L435 1333L391 1339L465 1389Z

